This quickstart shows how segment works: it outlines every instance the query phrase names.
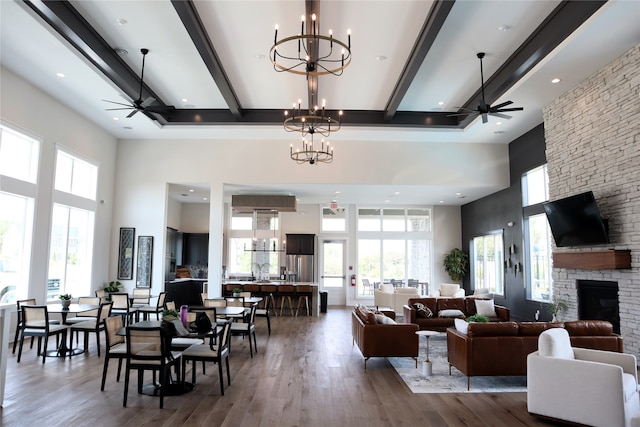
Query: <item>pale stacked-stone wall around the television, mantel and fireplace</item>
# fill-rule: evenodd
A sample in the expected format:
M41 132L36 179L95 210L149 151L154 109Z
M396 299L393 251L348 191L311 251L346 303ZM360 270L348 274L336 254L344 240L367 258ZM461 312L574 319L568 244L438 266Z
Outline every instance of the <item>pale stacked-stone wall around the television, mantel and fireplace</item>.
M605 246L630 249L630 270L553 269L554 298L568 296L562 320L577 319L576 280L617 281L625 351L640 355L640 45L544 108L551 200L593 191L609 219Z

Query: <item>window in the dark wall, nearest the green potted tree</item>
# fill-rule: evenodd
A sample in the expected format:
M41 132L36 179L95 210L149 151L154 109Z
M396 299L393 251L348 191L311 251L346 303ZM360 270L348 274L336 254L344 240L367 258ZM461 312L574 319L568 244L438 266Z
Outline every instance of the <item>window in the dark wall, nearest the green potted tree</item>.
M502 230L475 237L471 243L471 274L474 288L504 295L504 245Z

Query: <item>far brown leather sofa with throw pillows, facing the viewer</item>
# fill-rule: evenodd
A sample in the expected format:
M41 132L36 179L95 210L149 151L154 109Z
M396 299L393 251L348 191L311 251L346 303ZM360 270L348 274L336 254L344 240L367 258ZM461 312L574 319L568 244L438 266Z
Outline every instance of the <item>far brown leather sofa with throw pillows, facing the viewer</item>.
M453 326L453 317L438 317L438 313L442 310L460 310L464 317L467 318L476 314L476 299L486 300L488 298L410 298L404 309L404 323L415 323L420 330L428 329L431 331L444 332L447 328ZM422 303L431 310L431 317L418 317L416 309L413 307L415 303ZM494 305L496 317L490 317L491 322L506 322L509 320L510 311L507 307Z

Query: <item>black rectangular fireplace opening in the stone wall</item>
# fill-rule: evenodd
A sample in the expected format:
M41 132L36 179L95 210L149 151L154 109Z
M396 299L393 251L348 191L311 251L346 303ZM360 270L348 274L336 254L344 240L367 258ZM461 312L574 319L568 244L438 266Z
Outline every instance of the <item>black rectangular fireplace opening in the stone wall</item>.
M618 283L604 280L578 280L578 318L607 320L613 332L620 333Z

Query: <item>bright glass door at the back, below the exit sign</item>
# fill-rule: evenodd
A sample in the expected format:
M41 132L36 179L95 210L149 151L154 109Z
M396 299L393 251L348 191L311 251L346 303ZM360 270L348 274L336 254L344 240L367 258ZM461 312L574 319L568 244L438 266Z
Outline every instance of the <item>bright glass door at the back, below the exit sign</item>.
M344 306L346 295L346 241L323 240L320 244L320 290L327 292L327 304Z

